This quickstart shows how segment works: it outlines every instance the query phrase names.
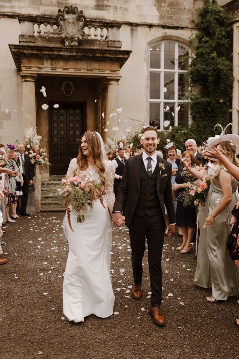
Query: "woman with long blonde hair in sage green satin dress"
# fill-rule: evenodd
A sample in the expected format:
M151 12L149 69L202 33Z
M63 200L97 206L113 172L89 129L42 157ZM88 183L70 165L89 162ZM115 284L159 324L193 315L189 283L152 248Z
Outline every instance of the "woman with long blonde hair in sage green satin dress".
M221 142L217 148L239 167L239 161L235 157L236 146L231 141ZM212 295L207 297L207 301L212 303L226 300L231 295L239 296L238 267L231 261L226 248L231 210L237 202L237 186L238 181L221 165L211 176L204 208L207 218L203 226L206 237L205 263L208 263L209 269L197 266L193 282L204 288L212 287Z

